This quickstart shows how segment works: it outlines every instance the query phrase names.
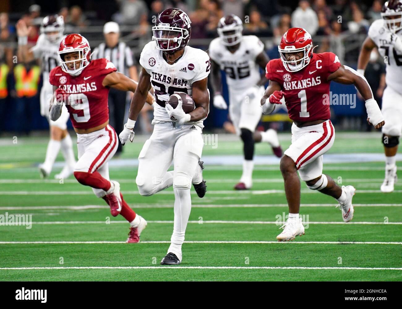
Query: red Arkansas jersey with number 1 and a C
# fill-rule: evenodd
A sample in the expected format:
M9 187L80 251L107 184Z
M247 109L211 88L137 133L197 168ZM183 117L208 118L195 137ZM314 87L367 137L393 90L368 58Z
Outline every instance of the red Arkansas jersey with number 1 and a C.
M308 122L331 117L328 76L338 70L340 62L334 53L313 54L310 63L297 72L287 71L281 59L267 64L265 76L279 82L285 97L289 118Z

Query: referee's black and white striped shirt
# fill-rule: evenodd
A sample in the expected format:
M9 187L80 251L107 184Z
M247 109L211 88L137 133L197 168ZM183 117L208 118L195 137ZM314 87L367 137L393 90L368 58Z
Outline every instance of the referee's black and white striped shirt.
M124 42L119 42L115 47L110 48L106 46L106 43L100 43L98 47L94 49L91 59L106 58L111 61L117 71L128 76L128 68L133 66L134 58L130 47Z

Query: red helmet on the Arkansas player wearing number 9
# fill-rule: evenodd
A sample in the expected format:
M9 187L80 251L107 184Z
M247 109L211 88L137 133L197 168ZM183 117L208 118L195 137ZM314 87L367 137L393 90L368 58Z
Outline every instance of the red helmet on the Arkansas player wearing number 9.
M76 60L65 61L65 54L78 52L79 57ZM60 66L62 70L72 76L78 76L81 74L81 71L86 68L91 59L91 48L89 47L89 43L82 35L78 33L73 33L66 35L62 42L60 43L59 51L57 52L59 55ZM76 68L75 62L80 61L80 66ZM74 62L74 68L69 69L68 63Z

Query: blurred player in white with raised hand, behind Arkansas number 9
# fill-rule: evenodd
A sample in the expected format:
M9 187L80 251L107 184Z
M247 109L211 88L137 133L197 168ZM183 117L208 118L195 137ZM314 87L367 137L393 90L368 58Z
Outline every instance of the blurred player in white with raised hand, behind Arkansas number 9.
M33 59L40 58L42 66L43 86L40 96L41 115L46 117L49 121L50 140L47 145L45 162L39 164L40 175L43 178L49 176L53 168L53 163L61 148L65 164L62 171L55 175L55 178L67 178L73 173L76 160L72 148L72 140L67 131L68 111L66 107L64 106L62 108L62 115L59 119L56 121L49 119L49 104L53 95L53 89L49 83L49 72L55 68L59 62L57 52L64 31L63 16L49 15L43 19L41 35L36 45L31 49L28 49L27 46L29 28L22 19L16 24L16 30L18 34L18 51L23 55L24 62L30 62Z

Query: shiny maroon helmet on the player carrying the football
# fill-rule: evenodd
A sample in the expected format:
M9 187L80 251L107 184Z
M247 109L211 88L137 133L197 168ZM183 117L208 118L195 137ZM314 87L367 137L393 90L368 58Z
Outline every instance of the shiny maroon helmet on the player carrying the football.
M152 40L157 48L172 54L184 48L190 40L191 21L189 16L178 8L167 8L159 14L156 25L152 27Z

